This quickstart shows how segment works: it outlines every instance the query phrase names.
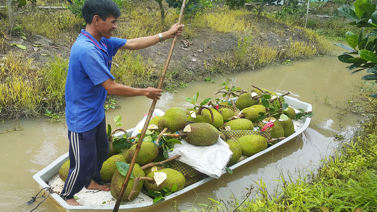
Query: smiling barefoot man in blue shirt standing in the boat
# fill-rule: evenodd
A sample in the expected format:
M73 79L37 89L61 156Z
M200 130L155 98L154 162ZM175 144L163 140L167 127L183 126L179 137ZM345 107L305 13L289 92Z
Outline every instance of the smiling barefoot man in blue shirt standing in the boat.
M87 23L72 46L66 81L66 121L70 168L60 196L70 205L79 205L74 194L87 189L109 191L101 183L100 170L109 153L103 104L106 94L123 97L146 96L159 99L161 89L131 88L118 84L110 73L118 49L138 50L181 35L184 25L142 38L111 37L117 28L120 10L112 0L86 0L82 15Z

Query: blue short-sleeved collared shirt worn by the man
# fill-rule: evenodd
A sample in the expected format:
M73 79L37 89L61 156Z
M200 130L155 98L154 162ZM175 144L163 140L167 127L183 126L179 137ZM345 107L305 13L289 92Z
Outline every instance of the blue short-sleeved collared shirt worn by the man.
M100 83L109 78L112 58L126 39L101 38L101 42L81 30L72 45L66 81L66 121L72 132L95 128L105 117L107 91Z

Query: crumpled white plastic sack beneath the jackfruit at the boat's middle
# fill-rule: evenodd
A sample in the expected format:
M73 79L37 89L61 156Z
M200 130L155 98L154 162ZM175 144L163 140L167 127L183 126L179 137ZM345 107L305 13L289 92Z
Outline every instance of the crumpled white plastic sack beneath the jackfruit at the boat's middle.
M179 141L181 141L182 145L175 144L174 150L168 152L169 158L181 155L175 160L188 164L199 172L213 178L221 177L233 154L229 149L229 145L221 138L210 146L196 146L187 143L184 139Z

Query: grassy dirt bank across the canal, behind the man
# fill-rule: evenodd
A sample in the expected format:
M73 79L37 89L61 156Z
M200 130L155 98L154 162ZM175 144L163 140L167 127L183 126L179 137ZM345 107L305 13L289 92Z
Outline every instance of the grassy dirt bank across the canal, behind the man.
M164 3L165 4L165 3ZM43 5L38 5L43 6ZM48 6L61 6L50 2ZM161 22L155 2L123 2L116 37L135 38L166 31L177 22L167 8ZM40 115L64 107L64 84L70 47L83 19L63 9L26 6L15 11L15 31L0 9L0 115ZM273 15L215 6L184 17L185 31L175 46L165 85L174 91L192 80L211 78L276 61L323 55L328 43L309 29L291 25ZM155 87L171 40L140 51L122 51L113 58L112 73L119 83ZM22 101L20 101L22 99Z

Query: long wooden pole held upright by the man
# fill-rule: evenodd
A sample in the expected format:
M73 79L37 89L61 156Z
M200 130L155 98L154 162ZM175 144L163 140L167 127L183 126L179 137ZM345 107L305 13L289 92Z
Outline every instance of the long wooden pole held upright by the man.
M183 0L182 8L181 8L181 14L179 15L179 19L178 19L178 25L181 25L182 17L183 17L183 11L185 10L185 5L186 5L186 0ZM174 35L172 46L170 46L170 51L169 51L169 54L167 55L167 60L166 60L165 66L164 66L164 70L162 71L161 78L160 78L160 81L159 81L158 86L157 86L158 89L161 89L162 84L164 83L167 68L169 67L170 59L172 58L173 50L174 50L174 46L175 46L176 42L177 42L177 35ZM120 203L121 203L123 195L124 195L124 190L126 190L128 182L130 180L133 167L135 166L136 158L138 157L138 154L139 154L139 151L140 151L140 148L141 148L141 143L143 143L144 135L147 131L149 121L150 121L150 118L152 117L153 111L155 110L156 103L157 103L157 100L153 100L152 105L150 106L147 119L145 121L143 130L141 131L139 142L136 145L135 152L133 153L133 157L132 157L132 160L131 160L131 163L130 163L130 167L128 168L126 178L124 179L123 185L122 185L120 192L119 192L119 195L118 195L118 198L116 199L116 203L115 203L113 212L118 212Z

